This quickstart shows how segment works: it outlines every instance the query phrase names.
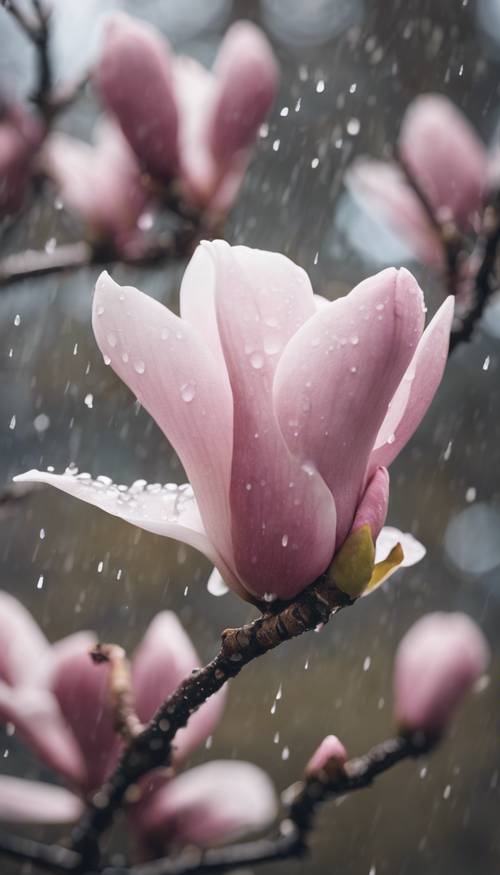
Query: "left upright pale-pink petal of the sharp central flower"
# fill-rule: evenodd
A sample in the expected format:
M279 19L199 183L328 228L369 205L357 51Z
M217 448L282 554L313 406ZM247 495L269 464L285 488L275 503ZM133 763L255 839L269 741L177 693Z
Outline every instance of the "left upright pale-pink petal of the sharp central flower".
M96 285L93 326L103 356L177 451L208 538L231 567L232 400L216 360L187 322L106 273Z

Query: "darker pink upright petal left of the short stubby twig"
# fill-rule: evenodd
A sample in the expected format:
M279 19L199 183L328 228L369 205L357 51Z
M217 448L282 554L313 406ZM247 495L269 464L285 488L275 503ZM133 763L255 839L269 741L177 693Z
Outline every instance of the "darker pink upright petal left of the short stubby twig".
M92 661L93 643L93 636L79 633L60 641L50 673L50 688L83 754L87 791L102 784L118 746L108 704L109 667Z

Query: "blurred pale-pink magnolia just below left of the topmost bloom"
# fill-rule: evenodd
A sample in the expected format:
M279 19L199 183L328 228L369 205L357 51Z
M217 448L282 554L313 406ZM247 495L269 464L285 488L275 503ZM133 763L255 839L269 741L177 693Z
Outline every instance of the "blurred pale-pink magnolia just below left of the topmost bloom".
M123 251L140 237L137 223L149 195L118 126L101 120L94 139L91 146L66 134L52 134L41 164L65 205L83 219L90 236Z

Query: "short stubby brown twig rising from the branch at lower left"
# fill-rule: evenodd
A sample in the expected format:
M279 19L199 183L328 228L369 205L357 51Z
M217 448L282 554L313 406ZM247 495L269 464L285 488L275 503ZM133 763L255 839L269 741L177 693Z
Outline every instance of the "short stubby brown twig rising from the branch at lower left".
M125 651L118 644L96 644L90 657L96 663L109 664L108 689L115 729L125 744L130 744L144 727L135 710L130 663Z

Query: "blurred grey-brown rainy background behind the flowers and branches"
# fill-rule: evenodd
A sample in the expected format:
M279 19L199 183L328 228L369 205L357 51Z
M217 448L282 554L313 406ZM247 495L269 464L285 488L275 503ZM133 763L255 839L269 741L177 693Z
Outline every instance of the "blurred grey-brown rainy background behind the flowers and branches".
M386 265L405 264L434 312L443 295L439 282L359 210L343 189L343 173L356 155L388 154L405 107L421 92L448 95L483 139L494 141L499 0L58 0L54 7L53 59L64 79L90 64L99 18L116 7L152 21L177 51L207 65L231 21L259 23L282 65L281 91L226 238L284 251L329 298ZM23 97L33 84L33 62L31 47L0 9L2 89ZM89 90L60 127L90 140L98 112ZM47 191L5 229L2 254L50 250L80 233ZM110 270L177 310L184 266ZM183 480L159 429L104 366L94 342L91 295L99 271L0 289L2 484L32 467L59 471L69 462L122 483ZM393 731L393 655L427 611L464 610L480 623L494 650L489 684L469 698L431 758L399 766L372 789L327 806L311 857L261 867L263 875L499 871L499 354L500 298L474 341L453 355L423 425L391 469L389 522L426 545L425 560L320 634L246 668L231 684L210 752L198 751L193 762L248 759L268 770L281 791L327 733L338 734L351 755L363 753ZM131 652L154 614L170 608L205 661L223 628L252 615L231 594L207 592L211 569L195 551L50 488L0 506L0 518L0 587L21 599L52 640L91 628ZM16 736L0 734L0 756L6 773L46 776ZM20 868L2 861L1 871Z

